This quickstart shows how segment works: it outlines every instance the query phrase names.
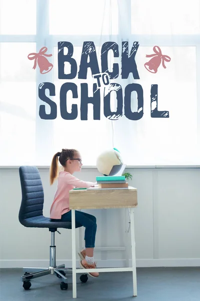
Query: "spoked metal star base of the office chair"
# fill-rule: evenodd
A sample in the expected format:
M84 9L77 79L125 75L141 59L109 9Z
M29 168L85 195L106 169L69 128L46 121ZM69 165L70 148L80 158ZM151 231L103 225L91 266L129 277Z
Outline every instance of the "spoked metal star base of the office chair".
M38 278L45 275L54 275L61 278L64 283L67 283L67 277L65 277L61 272L72 274L72 268L65 268L64 264L60 264L55 267L49 266L48 268L42 267L23 267L23 272L28 273L21 276L21 281L29 281L34 278ZM85 274L84 270L80 274Z

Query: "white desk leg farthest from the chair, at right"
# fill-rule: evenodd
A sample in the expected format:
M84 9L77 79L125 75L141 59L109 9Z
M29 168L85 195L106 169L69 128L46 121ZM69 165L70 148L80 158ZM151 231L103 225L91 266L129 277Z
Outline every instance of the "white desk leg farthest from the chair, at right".
M137 296L136 259L135 259L135 239L134 239L134 210L130 208L130 231L131 231L131 254L132 254L132 280L133 296Z

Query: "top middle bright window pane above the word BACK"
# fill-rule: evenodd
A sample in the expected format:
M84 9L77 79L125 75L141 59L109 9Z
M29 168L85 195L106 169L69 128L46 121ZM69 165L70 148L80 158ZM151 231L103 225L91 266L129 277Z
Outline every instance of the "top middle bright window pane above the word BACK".
M117 35L117 0L49 0L49 34Z

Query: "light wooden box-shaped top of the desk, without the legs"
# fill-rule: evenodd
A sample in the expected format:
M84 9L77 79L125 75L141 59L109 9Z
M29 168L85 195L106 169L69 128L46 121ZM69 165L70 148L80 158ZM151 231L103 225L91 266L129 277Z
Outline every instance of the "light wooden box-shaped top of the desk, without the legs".
M86 189L69 191L69 209L132 208L137 206L137 189Z

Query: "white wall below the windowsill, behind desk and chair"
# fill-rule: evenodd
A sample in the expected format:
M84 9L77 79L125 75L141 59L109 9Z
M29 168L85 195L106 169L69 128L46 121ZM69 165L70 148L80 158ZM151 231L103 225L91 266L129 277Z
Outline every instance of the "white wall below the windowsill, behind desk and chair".
M56 184L48 169L39 169L44 189L44 215L49 215ZM200 168L128 169L129 185L138 190L135 208L137 266L200 265ZM85 168L80 179L95 181L96 169ZM25 228L18 222L21 190L18 169L0 169L0 265L48 266L48 229ZM129 240L123 209L87 210L97 218L96 247L124 247ZM125 220L126 217L126 220ZM83 229L84 230L84 229ZM56 233L57 263L70 264L71 231ZM78 233L78 232L77 232ZM129 235L129 234L128 234ZM130 252L129 252L130 255ZM130 256L129 256L130 258ZM99 251L98 266L125 266L124 250ZM106 260L106 261L102 261Z

